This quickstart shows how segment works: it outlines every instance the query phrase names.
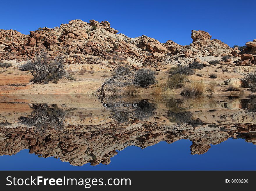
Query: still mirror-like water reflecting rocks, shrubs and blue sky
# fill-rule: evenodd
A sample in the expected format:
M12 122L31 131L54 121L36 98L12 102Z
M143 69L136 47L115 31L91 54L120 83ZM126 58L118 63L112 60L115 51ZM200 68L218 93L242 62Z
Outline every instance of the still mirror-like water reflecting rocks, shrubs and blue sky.
M0 96L0 170L256 170L256 97Z

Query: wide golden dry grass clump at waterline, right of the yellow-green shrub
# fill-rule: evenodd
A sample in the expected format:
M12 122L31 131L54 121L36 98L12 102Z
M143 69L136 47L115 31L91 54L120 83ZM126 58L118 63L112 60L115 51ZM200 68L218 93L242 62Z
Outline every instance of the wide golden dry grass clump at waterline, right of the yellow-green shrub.
M181 91L181 95L184 96L197 96L205 93L205 85L202 83L191 83L188 84Z

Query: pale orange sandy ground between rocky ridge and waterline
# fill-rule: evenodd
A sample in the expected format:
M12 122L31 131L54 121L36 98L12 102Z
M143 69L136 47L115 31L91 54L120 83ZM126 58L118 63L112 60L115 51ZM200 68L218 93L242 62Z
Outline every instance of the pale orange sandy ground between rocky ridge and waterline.
M62 79L57 84L49 82L48 84L31 84L29 81L33 77L31 72L22 72L18 69L20 63L13 63L8 68L0 68L0 94L92 94L104 82L106 78L111 76L109 68L103 65L68 65L67 70L73 74L76 81ZM152 94L154 89L160 85L164 85L169 74L167 70L173 66L166 65L161 71L157 71L156 85L150 88L141 89L140 94ZM153 69L153 68L152 68ZM213 91L207 91L209 83L214 81L219 84L230 78L243 78L248 72L255 71L256 67L234 67L227 65L216 65L204 67L196 70L194 75L188 76L189 82L204 83L206 87L205 94L251 94L247 88L240 88L239 91L227 91L227 85L218 85ZM197 76L202 75L202 77ZM217 78L209 78L210 74L216 74ZM180 89L174 89L168 94L180 94ZM120 92L122 93L122 92ZM163 92L163 94L165 94Z

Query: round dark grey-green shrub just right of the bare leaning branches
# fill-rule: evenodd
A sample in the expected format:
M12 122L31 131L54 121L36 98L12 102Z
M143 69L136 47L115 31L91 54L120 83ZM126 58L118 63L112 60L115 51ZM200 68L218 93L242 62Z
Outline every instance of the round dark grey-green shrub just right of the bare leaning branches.
M156 81L156 71L151 69L139 69L134 74L134 81L135 85L139 85L142 88L148 88L148 86L155 84Z

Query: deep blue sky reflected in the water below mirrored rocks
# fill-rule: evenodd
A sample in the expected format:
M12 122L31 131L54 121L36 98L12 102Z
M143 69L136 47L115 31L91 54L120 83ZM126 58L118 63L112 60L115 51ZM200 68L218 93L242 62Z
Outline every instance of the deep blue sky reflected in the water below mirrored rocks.
M111 158L109 165L72 166L53 157L38 158L28 149L0 156L0 170L256 170L256 145L228 139L211 145L202 155L191 155L189 140L160 142L145 149L130 146Z

